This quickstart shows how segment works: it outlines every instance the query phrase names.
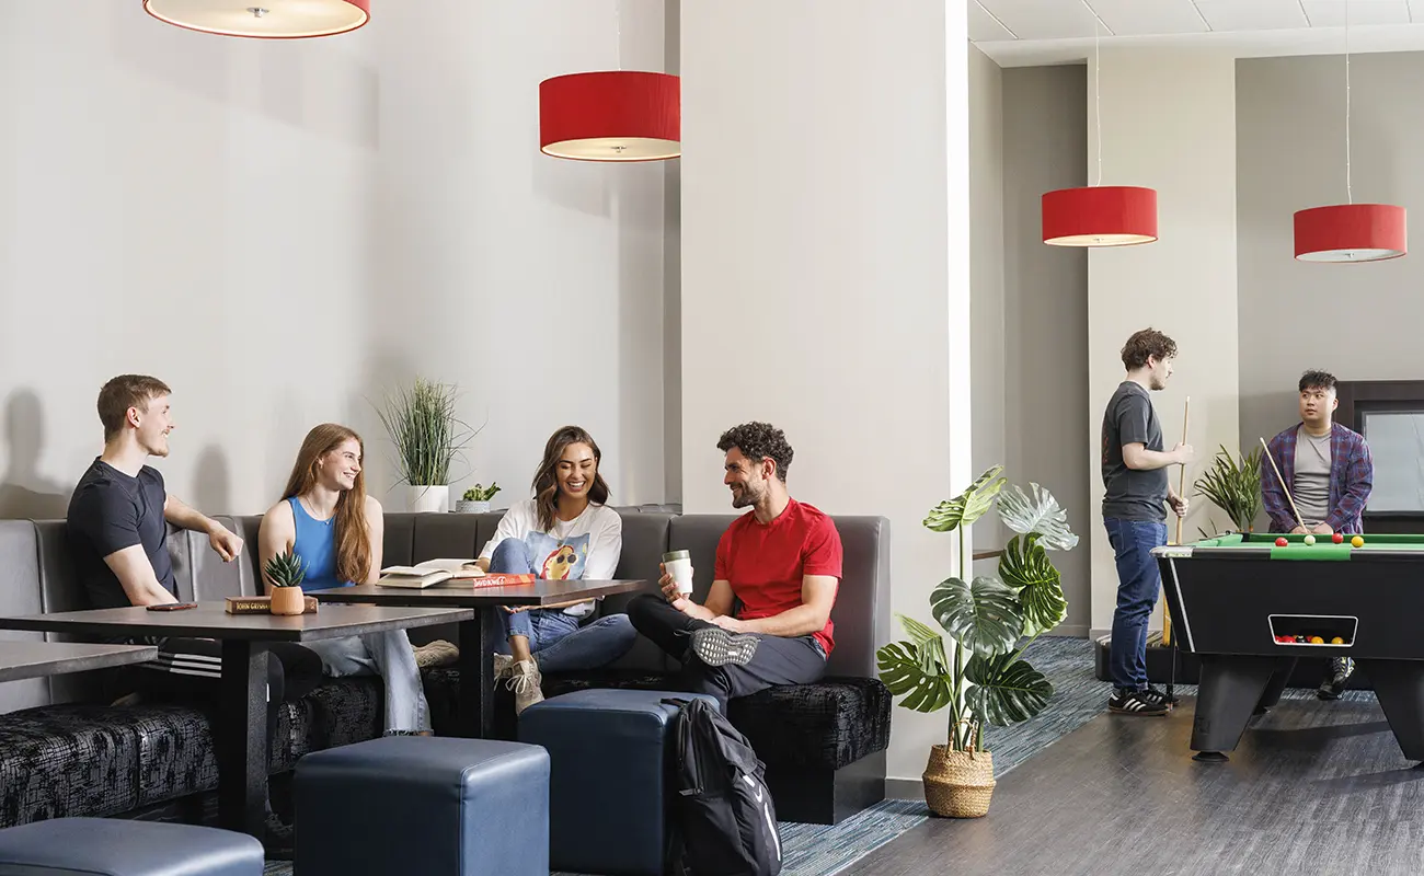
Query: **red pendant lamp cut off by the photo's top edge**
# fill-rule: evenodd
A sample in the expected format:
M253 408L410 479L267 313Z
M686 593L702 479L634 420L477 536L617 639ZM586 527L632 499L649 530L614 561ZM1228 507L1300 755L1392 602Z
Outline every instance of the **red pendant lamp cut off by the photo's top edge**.
M263 40L329 37L370 20L370 0L144 0L144 10L188 30Z

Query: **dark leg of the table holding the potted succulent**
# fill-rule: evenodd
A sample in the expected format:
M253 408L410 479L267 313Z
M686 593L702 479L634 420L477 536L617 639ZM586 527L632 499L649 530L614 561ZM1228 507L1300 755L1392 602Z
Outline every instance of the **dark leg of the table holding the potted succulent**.
M222 685L216 728L218 823L228 830L263 835L266 822L268 741L266 647L224 640Z

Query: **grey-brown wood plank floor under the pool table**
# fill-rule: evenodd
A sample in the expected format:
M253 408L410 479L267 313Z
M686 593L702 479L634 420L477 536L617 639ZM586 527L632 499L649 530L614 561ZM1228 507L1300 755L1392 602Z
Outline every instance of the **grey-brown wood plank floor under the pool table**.
M842 872L1424 873L1424 768L1373 701L1282 701L1229 763L1192 761L1193 706L1101 715L1002 776L988 816L933 818Z

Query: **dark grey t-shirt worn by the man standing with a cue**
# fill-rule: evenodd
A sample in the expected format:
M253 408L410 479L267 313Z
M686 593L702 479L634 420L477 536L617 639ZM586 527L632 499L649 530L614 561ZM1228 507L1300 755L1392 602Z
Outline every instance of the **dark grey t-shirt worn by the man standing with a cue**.
M1162 450L1162 423L1152 409L1148 390L1124 380L1102 414L1102 516L1118 520L1166 520L1166 467L1151 471L1129 469L1122 446L1141 443Z

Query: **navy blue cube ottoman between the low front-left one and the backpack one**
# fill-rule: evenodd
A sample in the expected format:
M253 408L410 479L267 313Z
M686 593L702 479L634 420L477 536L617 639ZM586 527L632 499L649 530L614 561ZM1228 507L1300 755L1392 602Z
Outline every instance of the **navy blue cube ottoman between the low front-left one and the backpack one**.
M296 762L302 876L548 876L548 754L384 736Z

